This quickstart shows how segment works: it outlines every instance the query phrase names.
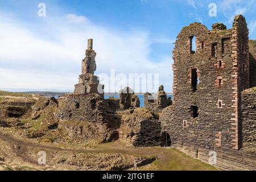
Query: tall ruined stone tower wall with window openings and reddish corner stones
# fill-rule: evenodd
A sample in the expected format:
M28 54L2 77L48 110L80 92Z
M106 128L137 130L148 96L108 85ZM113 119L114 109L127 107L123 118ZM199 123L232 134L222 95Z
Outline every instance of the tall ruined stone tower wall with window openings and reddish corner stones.
M240 97L249 86L248 54L240 53L242 44L248 49L246 40L247 27L241 15L230 30L214 24L209 31L200 23L181 30L173 52L173 105L160 114L162 130L170 134L172 144L240 147Z

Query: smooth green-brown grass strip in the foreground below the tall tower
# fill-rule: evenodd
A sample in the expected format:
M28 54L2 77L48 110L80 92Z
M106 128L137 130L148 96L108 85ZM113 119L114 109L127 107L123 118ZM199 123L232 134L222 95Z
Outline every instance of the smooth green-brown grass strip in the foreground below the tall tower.
M216 171L210 164L191 158L174 148L163 147L129 147L122 142L102 143L94 148L96 151L130 154L134 156L157 156L158 158L139 170L155 171Z

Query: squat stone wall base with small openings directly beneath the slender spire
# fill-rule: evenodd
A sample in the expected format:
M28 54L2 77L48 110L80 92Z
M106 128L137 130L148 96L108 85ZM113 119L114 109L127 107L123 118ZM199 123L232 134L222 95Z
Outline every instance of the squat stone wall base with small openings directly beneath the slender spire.
M106 122L104 103L98 94L68 94L59 101L57 118L76 121Z

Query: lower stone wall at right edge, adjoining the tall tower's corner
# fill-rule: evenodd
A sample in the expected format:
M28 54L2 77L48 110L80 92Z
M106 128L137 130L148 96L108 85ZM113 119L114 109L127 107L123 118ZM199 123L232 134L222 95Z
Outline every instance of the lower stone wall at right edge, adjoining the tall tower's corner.
M242 144L256 151L256 88L242 93Z

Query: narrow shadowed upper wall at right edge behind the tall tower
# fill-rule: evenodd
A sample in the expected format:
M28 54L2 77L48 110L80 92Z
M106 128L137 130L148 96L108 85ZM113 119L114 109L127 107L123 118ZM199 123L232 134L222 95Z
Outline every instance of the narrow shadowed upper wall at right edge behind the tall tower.
M256 40L249 40L250 88L256 86Z

